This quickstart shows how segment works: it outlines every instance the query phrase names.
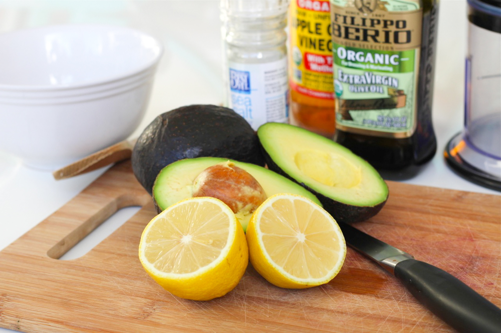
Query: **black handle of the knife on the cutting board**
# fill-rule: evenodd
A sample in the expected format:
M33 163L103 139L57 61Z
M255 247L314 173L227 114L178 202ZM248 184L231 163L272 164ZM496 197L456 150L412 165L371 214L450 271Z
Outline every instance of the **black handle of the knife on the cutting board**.
M429 310L460 332L501 332L501 309L446 271L408 259L395 276Z

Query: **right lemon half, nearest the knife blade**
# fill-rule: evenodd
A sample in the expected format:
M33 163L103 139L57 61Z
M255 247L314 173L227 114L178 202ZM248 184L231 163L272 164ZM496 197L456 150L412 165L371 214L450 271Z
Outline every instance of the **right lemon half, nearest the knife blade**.
M269 282L308 288L341 269L346 242L334 218L312 200L279 193L254 212L247 226L249 260Z

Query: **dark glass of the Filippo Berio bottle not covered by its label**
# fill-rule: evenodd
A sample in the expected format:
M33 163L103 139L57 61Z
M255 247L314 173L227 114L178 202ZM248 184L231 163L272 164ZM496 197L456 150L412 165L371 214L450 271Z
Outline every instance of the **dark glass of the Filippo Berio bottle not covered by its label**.
M436 152L431 121L433 76L438 27L437 0L423 1L422 39L417 83L416 127L408 137L383 137L336 129L334 141L346 146L378 169L386 179L407 179Z

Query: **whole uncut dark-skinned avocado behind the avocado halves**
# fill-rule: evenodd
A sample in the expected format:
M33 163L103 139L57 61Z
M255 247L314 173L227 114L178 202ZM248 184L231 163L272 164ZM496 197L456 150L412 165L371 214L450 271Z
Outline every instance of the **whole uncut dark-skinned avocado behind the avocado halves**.
M188 105L162 113L146 126L132 151L132 169L151 194L164 166L201 156L265 165L258 136L242 116L222 106Z

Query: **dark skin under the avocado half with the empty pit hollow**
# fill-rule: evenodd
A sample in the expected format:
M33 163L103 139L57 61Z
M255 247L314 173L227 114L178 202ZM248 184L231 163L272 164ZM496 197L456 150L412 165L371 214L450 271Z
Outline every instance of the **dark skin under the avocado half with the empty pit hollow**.
M322 205L324 206L324 209L327 210L329 214L334 217L334 219L337 222L346 222L346 223L353 223L353 222L360 222L363 220L366 220L374 215L376 215L381 208L383 208L384 204L386 203L386 199L375 205L375 206L354 206L351 204L346 204L343 202L336 201L322 193L317 192L313 188L310 188L303 182L299 182L293 177L291 177L289 174L284 172L280 166L278 166L272 159L272 157L268 154L268 152L262 148L263 155L265 156L266 163L268 165L268 168L272 171L275 171L295 182L300 184L301 186L305 187L308 189L310 192L315 194L315 196L319 199L320 202L322 202Z

